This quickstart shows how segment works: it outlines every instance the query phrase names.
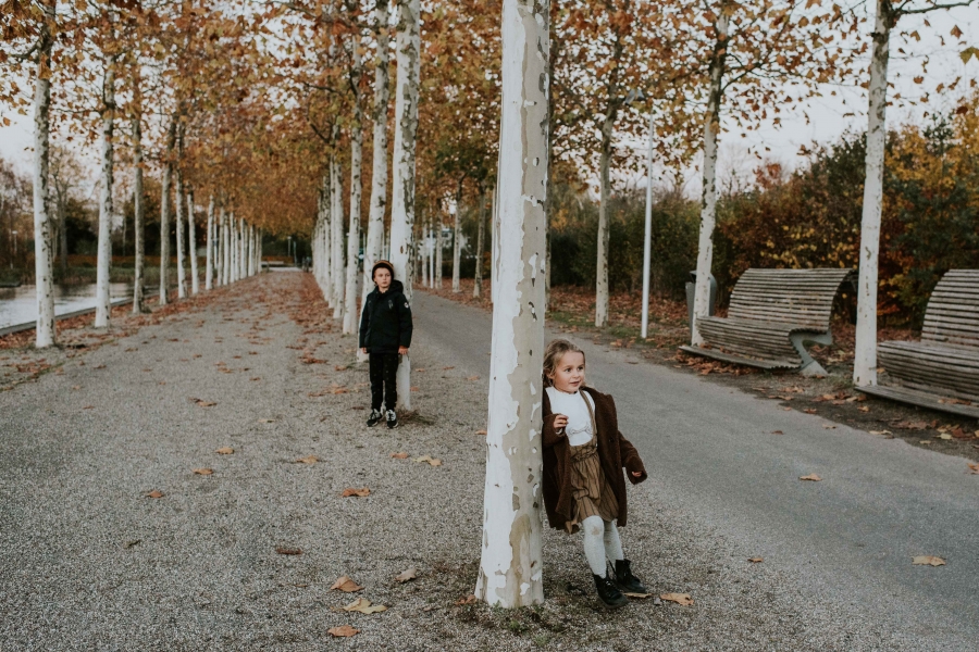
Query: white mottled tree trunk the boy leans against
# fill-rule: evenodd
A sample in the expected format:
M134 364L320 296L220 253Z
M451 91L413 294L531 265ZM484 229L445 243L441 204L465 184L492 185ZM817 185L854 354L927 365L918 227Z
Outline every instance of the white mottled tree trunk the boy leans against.
M405 285L411 301L411 258L414 247L414 174L418 136L418 93L421 75L419 0L398 0L397 87L395 89L395 147L391 212L391 263L395 278ZM398 408L411 410L411 359L398 366Z

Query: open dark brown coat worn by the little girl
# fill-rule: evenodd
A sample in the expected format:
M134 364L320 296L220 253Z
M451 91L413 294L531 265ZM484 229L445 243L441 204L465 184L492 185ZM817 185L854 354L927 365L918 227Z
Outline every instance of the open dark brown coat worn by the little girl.
M628 472L629 480L637 485L646 479L646 468L640 459L635 447L619 432L619 419L616 416L616 402L608 396L591 387L582 391L587 392L595 403L595 424L598 427L598 459L602 461L602 471L608 478L619 502L618 524L624 526L627 522L625 481L622 477L622 468ZM565 523L570 521L573 514L573 487L571 486L571 444L568 437L558 434L554 428L554 419L557 415L550 411L550 398L544 392L544 507L547 510L547 522L555 529L565 529ZM633 472L640 472L640 477L634 477Z

